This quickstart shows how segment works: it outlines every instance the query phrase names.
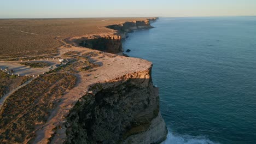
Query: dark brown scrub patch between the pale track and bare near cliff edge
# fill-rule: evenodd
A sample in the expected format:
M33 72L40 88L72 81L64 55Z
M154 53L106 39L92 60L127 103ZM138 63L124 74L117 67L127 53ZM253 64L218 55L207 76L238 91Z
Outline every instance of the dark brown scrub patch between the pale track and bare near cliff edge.
M73 88L75 81L70 74L48 74L11 94L0 111L0 143L32 140L33 131L46 122L61 102L61 95Z

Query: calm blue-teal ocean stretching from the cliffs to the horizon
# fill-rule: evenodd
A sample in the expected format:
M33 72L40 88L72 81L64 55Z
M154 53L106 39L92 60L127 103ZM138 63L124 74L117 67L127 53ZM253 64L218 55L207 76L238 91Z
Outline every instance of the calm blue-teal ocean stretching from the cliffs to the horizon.
M164 143L256 143L256 17L160 18L124 50L153 62Z

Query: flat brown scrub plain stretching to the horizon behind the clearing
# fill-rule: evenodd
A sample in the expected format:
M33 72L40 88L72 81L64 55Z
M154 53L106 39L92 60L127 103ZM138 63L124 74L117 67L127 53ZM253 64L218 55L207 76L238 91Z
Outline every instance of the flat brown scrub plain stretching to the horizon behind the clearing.
M1 19L0 59L57 55L63 45L57 39L84 34L113 33L108 25L144 18L83 18L83 19Z

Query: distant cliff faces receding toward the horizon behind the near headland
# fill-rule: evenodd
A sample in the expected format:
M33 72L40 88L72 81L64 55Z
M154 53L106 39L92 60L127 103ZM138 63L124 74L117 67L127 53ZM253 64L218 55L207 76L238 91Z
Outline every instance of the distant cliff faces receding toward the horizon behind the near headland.
M110 53L123 52L121 39L126 38L126 34L136 29L153 28L150 22L156 21L157 18L146 19L141 21L127 21L115 25L106 26L114 29L114 34L92 34L82 35L80 37L69 37L65 39L66 43L74 46L83 46L94 50L100 50Z

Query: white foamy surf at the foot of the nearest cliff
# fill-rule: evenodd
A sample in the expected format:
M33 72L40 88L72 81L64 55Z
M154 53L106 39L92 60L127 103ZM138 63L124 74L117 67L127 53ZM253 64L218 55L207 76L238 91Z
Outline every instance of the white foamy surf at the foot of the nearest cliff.
M168 131L167 139L161 144L217 144L203 136L173 135ZM219 143L218 143L219 144Z

